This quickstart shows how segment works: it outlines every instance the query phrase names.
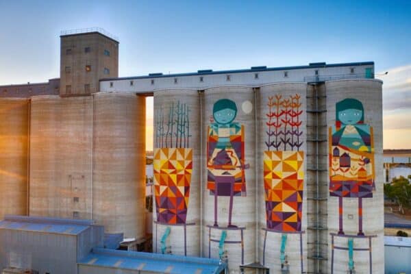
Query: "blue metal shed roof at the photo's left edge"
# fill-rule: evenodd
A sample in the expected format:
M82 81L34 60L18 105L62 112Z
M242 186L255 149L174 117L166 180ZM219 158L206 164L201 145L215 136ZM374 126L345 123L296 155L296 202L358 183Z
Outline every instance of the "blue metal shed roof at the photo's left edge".
M5 216L5 219L0 221L0 229L78 235L88 229L89 222L28 216Z

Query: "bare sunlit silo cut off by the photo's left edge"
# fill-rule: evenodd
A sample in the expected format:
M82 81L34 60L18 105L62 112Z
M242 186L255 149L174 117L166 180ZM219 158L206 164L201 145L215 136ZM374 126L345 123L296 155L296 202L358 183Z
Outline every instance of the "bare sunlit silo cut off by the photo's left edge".
M29 101L0 99L0 218L27 214Z

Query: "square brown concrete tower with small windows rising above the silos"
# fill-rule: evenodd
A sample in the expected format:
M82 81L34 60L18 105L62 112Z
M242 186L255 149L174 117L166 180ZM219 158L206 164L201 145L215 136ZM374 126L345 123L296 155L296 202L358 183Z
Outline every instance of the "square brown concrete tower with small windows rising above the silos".
M99 79L119 76L119 42L102 29L60 36L60 95L99 92Z

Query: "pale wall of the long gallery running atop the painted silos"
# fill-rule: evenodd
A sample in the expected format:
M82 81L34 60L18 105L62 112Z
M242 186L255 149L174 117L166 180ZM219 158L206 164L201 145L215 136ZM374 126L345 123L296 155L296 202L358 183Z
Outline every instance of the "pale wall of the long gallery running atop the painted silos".
M351 68L354 73L351 73ZM319 77L324 79L340 78L364 78L365 69L372 68L373 64L345 66L327 66L327 67L308 67L308 68L279 68L273 71L222 71L215 73L187 73L177 75L142 76L127 77L119 79L104 79L100 81L100 91L119 91L119 92L152 92L158 89L166 88L196 88L203 90L213 86L232 86L247 85L261 86L276 82L310 82L314 81L315 71L319 71ZM284 72L288 76L284 76ZM256 78L256 73L258 78ZM227 79L229 76L229 79ZM201 82L200 77L203 78ZM177 79L177 82L175 82ZM151 84L153 80L153 84ZM133 83L131 83L133 82ZM112 83L112 85L111 85Z

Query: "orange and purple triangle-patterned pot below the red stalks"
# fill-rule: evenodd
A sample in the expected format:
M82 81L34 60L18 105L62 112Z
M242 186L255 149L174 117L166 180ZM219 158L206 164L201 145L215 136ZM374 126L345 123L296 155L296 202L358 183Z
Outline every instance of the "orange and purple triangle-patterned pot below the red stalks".
M264 151L267 229L300 232L303 209L303 151Z

